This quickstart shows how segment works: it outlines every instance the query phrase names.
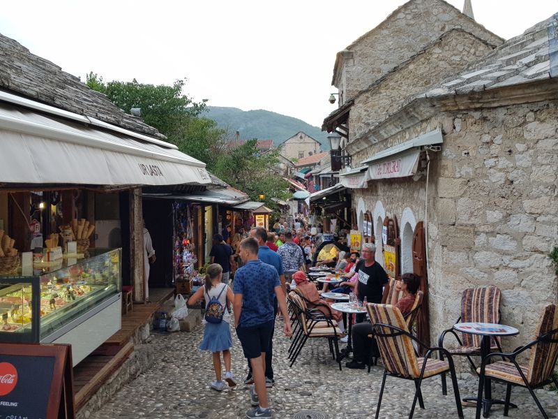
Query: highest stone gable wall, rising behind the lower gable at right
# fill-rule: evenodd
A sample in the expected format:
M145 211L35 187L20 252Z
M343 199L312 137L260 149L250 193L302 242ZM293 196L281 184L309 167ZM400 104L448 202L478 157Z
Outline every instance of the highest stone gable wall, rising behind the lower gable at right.
M446 31L461 28L492 45L502 39L442 0L412 0L375 29L347 47L353 59L340 57L335 86L345 83L344 101L419 52Z

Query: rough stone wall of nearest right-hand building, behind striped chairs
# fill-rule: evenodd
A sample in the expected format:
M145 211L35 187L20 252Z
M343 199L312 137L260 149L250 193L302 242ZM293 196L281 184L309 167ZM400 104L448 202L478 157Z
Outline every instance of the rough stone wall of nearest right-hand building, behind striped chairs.
M504 339L513 349L531 340L541 309L558 300L547 256L558 245L558 101L442 112L373 145L370 154L435 126L444 145L430 153L432 337L458 318L465 288L494 285L502 290L502 323L520 330ZM355 206L362 197L372 211L380 200L390 216L401 219L409 207L424 220L424 177L369 185L354 191Z

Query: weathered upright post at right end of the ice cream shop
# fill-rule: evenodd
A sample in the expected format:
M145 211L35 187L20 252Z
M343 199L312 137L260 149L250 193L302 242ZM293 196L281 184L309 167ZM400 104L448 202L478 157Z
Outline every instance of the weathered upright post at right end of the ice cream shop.
M130 192L130 274L134 285L134 301L145 302L144 289L144 226L142 189Z

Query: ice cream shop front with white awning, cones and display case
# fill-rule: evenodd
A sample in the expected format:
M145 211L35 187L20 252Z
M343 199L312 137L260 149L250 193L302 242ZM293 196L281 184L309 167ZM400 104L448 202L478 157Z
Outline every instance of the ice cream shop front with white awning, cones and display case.
M29 103L0 101L0 341L71 344L76 365L119 330L122 282L142 295L137 186L209 176L173 145Z

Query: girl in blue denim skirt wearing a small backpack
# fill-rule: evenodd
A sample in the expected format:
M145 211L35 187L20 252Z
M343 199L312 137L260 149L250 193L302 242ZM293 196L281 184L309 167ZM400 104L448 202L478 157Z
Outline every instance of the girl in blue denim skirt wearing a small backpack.
M199 345L202 351L213 352L213 368L215 369L216 381L210 383L211 388L217 391L225 389L225 383L221 380L221 359L220 352L223 351L223 361L225 362L225 381L229 387L234 387L236 381L231 372L231 352L229 348L232 346L231 331L229 328L230 314L227 308L233 300L232 290L227 284L221 282L223 277L223 267L218 263L212 263L207 267L207 274L205 277L205 285L200 286L188 300L188 304L193 305L202 296L205 298L206 307L212 297L218 298L220 304L223 306L223 321L220 323L205 323L204 339Z

